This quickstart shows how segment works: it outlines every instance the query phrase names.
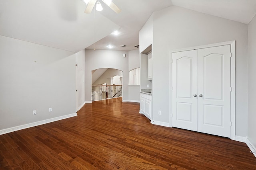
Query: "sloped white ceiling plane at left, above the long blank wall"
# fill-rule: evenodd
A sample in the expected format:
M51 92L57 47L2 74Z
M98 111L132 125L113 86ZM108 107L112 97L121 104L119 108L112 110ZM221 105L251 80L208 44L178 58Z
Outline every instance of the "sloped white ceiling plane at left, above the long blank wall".
M119 29L80 0L0 0L0 35L78 52Z

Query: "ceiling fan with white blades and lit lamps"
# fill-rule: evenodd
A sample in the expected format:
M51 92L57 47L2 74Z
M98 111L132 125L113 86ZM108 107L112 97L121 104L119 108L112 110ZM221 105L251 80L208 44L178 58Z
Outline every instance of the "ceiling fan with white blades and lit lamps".
M118 6L116 6L116 4L112 2L112 0L102 0L102 1L105 4L107 4L107 6L109 6L117 14L121 12L121 9ZM90 14L92 12L92 9L95 6L95 4L96 4L97 11L101 11L103 9L99 0L84 0L84 2L87 4L86 9L84 11L86 14Z

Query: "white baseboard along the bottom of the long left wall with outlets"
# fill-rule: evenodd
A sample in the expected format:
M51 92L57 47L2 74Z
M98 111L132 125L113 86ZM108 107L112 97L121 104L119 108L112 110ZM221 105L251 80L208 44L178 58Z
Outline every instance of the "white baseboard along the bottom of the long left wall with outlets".
M67 118L74 117L74 116L77 116L77 114L73 113L73 114L69 114L69 115L64 115L64 116L60 116L60 117L54 117L54 118L51 118L51 119L46 119L46 120L42 120L42 121L28 123L26 125L20 125L20 126L10 127L10 128L7 128L7 129L2 129L2 130L0 130L0 135L10 133L10 132L14 132L14 131L19 131L19 130L26 129L26 128L29 128L29 127L43 125L43 124L46 124L46 123L51 123L51 122L62 120L62 119L67 119Z

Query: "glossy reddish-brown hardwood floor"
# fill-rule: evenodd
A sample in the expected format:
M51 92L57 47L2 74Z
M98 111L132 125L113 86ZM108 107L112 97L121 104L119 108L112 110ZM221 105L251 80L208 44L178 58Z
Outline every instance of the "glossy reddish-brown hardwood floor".
M245 143L152 125L122 98L85 104L78 116L0 135L0 169L256 170Z

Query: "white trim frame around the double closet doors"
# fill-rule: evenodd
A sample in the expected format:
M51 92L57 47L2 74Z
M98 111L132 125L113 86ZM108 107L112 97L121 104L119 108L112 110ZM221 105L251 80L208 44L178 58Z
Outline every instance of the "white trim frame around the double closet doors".
M230 121L231 121L231 130L230 130L230 139L235 140L236 136L236 41L227 41L222 43L216 43L216 44L209 44L209 45L202 45L197 47L189 47L184 49L177 49L170 52L170 62L169 62L169 87L170 87L170 94L169 94L169 125L172 127L172 53L180 52L180 51L189 51L194 49L204 49L209 47L217 47L222 45L230 45L231 49L231 105L230 105Z

